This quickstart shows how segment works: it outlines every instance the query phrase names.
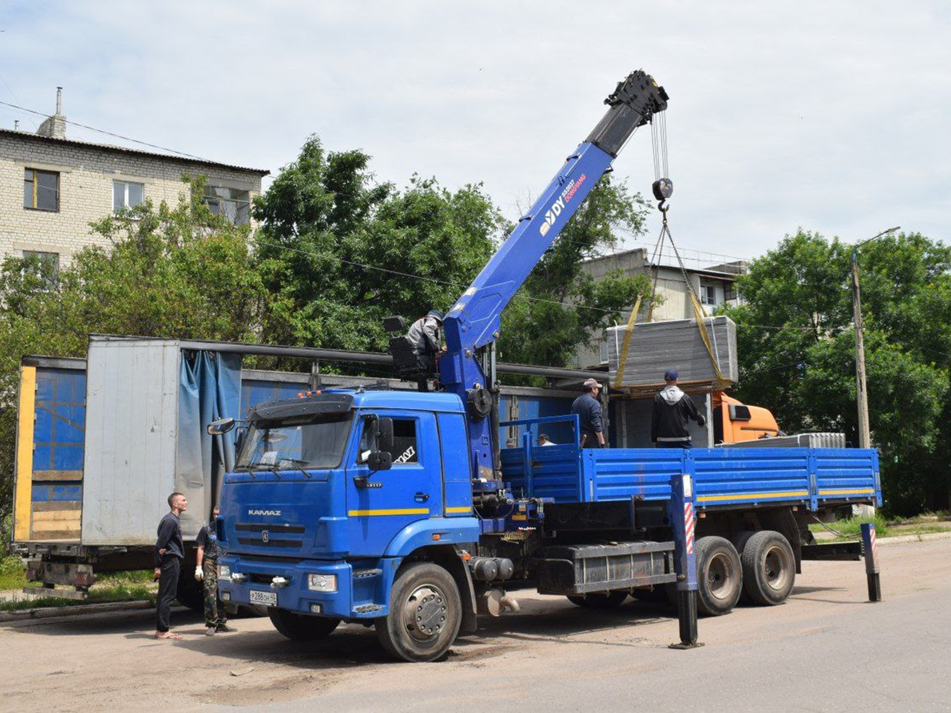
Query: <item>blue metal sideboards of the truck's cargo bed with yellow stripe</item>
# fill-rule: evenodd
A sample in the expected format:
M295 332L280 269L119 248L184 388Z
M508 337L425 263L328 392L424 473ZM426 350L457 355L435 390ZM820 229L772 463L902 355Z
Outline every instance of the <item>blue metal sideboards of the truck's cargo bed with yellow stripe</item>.
M576 416L523 419L533 426ZM531 428L529 429L531 431ZM577 431L575 430L575 433ZM882 505L874 449L581 449L574 443L522 444L501 452L502 476L524 497L555 503L669 500L671 482L692 477L696 508L801 505L810 511L851 503Z

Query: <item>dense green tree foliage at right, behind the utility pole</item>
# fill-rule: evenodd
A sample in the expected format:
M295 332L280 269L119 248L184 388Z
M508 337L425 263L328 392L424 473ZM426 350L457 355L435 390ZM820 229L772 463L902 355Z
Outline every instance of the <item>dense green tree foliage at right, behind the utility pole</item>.
M800 231L738 279L736 395L786 431L858 442L852 246ZM919 234L870 241L859 266L872 440L886 507L947 509L951 479L951 248Z

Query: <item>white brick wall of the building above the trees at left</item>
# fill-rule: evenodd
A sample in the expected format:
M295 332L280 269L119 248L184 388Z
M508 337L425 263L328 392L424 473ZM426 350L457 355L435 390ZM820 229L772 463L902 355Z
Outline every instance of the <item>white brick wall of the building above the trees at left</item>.
M23 207L24 168L60 172L58 212ZM0 260L36 250L59 253L64 265L86 245L108 247L108 241L92 234L89 222L112 211L112 182L145 183L146 199L174 205L186 189L183 172L204 174L212 185L248 190L252 199L261 193L257 171L0 133Z

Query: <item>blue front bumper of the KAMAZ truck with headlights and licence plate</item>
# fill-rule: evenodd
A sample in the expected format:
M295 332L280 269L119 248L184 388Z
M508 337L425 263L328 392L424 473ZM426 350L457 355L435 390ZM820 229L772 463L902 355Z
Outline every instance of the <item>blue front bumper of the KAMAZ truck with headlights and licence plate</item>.
M374 566L376 565L376 566ZM252 600L251 592L274 594L276 606L301 614L320 614L340 619L374 619L387 614L389 591L386 575L398 567L398 559L385 559L377 563L358 563L340 560L303 560L301 562L266 561L243 558L241 555L224 555L219 566L227 568L229 577L220 578L218 591L227 604L260 605ZM243 581L235 575L243 574ZM333 574L337 577L336 591L312 591L307 588L308 574ZM280 577L282 586L272 581Z

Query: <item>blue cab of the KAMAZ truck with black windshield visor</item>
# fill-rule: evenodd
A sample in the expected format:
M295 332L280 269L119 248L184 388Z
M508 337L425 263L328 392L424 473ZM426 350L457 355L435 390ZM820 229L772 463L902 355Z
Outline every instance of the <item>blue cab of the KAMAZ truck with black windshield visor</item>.
M461 557L479 525L456 395L316 392L262 404L247 421L221 494L223 601L270 607L282 633L303 637L386 617L407 558L444 562L457 591L472 590Z

